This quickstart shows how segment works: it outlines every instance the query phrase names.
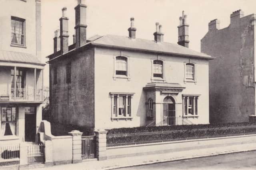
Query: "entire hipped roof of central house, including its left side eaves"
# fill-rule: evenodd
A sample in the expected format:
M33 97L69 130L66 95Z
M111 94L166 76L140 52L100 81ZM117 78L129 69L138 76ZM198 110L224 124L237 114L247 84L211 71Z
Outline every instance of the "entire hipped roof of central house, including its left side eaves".
M88 39L88 42L82 45L79 48L93 45L96 47L107 47L107 48L115 48L115 49L124 49L124 50L132 50L132 51L141 51L147 53L158 53L162 55L178 55L181 57L197 57L202 59L214 59L210 55L206 55L204 53L200 53L189 49L187 47L183 47L181 45L166 43L166 42L156 42L153 40L147 39L131 39L130 37L119 36L119 35L94 35ZM75 51L76 49L72 49L71 51ZM66 55L67 53L63 54ZM53 57L50 61L61 57L62 55L52 54L47 58ZM47 62L48 63L48 62Z

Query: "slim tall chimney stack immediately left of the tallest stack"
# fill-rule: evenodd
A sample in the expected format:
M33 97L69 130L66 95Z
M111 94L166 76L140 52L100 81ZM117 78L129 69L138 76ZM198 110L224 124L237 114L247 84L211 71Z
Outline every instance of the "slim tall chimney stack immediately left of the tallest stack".
M68 18L66 16L67 8L62 8L62 17L60 18L60 52L68 52Z

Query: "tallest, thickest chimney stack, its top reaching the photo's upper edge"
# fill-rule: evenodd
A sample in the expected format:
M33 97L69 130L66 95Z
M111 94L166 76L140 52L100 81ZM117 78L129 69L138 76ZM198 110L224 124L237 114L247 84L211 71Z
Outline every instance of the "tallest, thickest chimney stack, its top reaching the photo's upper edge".
M76 48L86 44L86 5L85 0L77 0L76 10Z

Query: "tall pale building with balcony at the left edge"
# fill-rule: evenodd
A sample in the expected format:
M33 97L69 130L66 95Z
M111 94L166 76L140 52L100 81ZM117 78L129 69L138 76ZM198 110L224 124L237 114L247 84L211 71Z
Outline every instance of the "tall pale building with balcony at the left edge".
M0 145L34 142L42 120L40 0L0 6Z

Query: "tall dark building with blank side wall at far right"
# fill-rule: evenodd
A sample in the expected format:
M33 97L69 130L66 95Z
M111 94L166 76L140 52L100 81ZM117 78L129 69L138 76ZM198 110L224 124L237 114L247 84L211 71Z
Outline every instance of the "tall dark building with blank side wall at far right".
M201 39L201 51L215 57L209 62L210 122L246 122L255 116L256 16L242 10L230 15L230 25L210 21Z

